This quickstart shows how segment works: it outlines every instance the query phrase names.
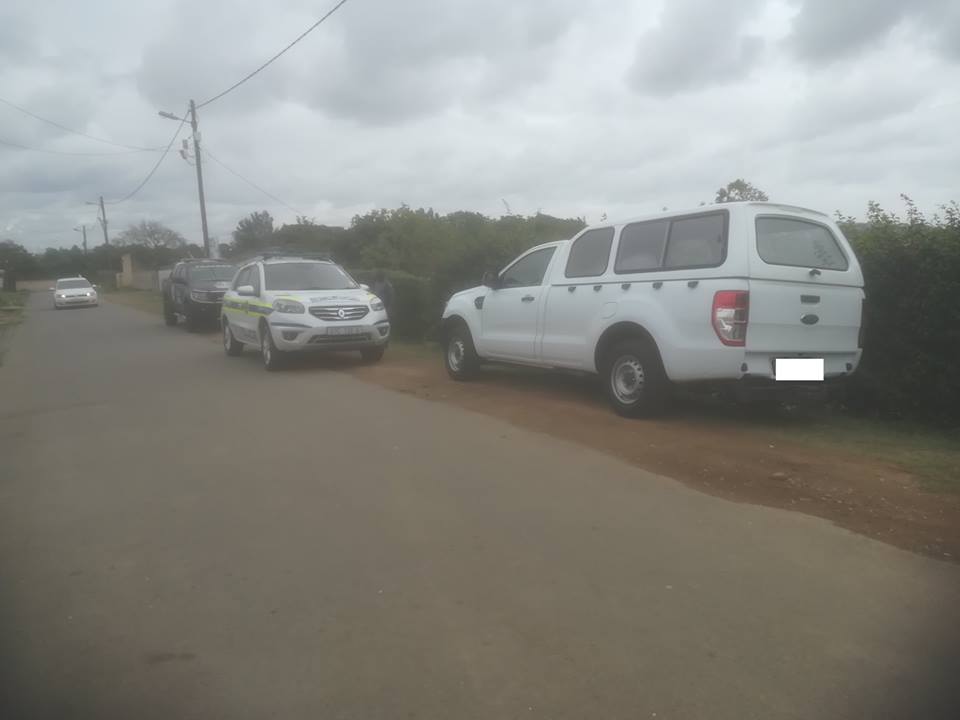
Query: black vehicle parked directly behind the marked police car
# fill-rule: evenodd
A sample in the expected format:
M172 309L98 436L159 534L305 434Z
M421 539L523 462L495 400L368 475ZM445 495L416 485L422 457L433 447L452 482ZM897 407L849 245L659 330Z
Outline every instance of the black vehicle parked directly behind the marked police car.
M230 287L236 267L222 260L182 260L163 281L163 319L176 325L183 316L188 330L220 318L223 293Z

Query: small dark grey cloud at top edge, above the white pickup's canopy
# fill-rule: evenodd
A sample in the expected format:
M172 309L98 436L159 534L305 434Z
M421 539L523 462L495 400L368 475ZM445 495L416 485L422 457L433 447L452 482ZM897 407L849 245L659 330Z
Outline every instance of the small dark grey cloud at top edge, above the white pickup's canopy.
M673 0L644 33L628 79L641 92L671 95L744 77L763 49L742 28L760 0Z

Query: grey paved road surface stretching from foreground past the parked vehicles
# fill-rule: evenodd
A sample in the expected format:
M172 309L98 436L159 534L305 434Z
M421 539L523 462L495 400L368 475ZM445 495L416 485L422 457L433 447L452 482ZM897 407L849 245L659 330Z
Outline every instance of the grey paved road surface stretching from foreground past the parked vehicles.
M5 719L960 717L955 565L137 310L0 455Z

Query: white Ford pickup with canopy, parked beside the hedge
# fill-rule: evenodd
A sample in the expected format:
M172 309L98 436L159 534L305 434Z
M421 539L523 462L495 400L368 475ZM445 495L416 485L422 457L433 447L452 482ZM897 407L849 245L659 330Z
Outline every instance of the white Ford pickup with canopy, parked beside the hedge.
M456 380L483 361L598 373L622 415L673 383L822 381L860 362L863 276L831 219L729 203L531 248L443 312Z

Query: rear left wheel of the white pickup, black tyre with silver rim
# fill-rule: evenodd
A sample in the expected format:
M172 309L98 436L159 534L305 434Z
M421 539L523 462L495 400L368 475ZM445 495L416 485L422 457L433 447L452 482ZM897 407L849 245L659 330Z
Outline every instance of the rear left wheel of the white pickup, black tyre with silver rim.
M670 384L656 348L646 340L623 340L610 348L601 377L618 415L644 417L666 407Z

